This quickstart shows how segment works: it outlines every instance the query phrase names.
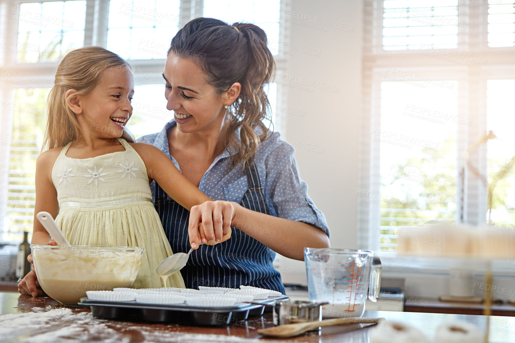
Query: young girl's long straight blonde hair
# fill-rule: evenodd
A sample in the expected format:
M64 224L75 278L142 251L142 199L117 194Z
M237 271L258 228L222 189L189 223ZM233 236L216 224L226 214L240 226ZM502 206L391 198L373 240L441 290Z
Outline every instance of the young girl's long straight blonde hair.
M48 94L48 123L41 151L64 146L82 136L75 113L68 101L75 95L87 95L97 85L102 72L108 68L130 65L123 58L99 46L89 46L66 54L57 67L54 87ZM68 90L77 92L66 97ZM134 139L124 130L122 138L133 143Z

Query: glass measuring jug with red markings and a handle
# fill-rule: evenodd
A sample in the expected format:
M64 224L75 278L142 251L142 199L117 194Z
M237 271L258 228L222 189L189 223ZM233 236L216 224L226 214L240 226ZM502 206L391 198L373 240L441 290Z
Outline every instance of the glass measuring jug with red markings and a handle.
M370 250L304 248L310 300L327 301L322 317L361 317L368 299L375 302L381 260Z

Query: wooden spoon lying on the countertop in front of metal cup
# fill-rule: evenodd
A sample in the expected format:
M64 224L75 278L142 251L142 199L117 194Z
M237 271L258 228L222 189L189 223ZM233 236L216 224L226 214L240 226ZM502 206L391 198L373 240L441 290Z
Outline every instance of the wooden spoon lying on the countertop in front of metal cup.
M318 327L330 327L332 325L341 325L341 324L374 324L379 322L384 318L360 318L360 317L350 317L350 318L334 318L334 319L324 319L322 321L306 321L304 323L295 323L295 324L285 324L278 325L277 327L261 329L258 330L258 333L263 336L268 337L294 337L300 334L303 334L306 331L314 330Z

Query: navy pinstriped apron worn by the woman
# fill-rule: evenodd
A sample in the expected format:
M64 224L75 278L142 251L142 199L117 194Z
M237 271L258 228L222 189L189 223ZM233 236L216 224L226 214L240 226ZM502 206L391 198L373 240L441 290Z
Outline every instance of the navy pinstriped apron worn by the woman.
M241 205L249 210L269 214L265 195L261 188L258 169L252 164L248 170L250 188ZM188 236L190 211L171 199L156 183L155 206L159 213L171 249L188 252L191 248ZM278 290L285 293L280 273L273 268L276 253L242 231L231 227L231 238L214 246L201 245L190 255L181 274L187 288L198 286L232 287L240 285ZM252 228L258 234L270 234L269 230Z

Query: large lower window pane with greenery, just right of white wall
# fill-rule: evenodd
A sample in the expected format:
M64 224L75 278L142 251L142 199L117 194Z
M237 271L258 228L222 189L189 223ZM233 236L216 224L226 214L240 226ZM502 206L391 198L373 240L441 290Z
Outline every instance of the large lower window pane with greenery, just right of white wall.
M382 82L380 142L381 251L395 247L397 228L454 222L457 87Z

